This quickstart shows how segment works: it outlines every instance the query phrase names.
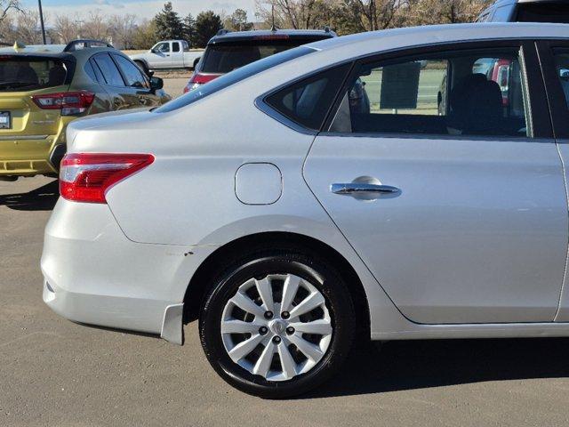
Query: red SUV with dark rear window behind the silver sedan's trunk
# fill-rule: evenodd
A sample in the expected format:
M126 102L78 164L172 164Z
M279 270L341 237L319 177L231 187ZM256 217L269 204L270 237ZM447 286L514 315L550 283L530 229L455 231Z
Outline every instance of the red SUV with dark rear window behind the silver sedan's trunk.
M196 89L214 78L262 60L301 44L332 38L330 29L276 29L271 31L236 31L222 29L205 47L204 57L189 78L184 93Z

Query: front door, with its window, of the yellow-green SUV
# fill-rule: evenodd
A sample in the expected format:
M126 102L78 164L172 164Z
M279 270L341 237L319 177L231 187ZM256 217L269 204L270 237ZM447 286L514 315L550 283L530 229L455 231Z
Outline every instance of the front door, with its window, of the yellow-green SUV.
M128 93L130 108L152 108L160 105L160 97L150 89L148 78L132 60L118 53L111 54L126 83L124 92Z

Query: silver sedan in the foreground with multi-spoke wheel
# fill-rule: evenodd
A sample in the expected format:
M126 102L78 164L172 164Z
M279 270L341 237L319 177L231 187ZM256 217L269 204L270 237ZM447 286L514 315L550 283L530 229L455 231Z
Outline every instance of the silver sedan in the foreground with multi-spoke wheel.
M354 340L569 335L564 25L304 45L68 128L44 301L266 398ZM363 334L362 334L363 333Z

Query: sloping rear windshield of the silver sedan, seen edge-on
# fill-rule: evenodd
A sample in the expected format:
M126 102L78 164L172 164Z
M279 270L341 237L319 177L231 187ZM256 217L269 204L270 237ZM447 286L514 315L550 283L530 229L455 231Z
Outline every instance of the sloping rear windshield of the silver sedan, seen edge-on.
M276 67L277 65L283 64L289 60L300 58L301 56L304 56L311 52L316 51L314 49L310 49L309 47L297 47L290 51L270 56L264 60L258 60L252 64L244 66L243 68L239 68L236 71L216 78L215 80L212 80L211 82L200 86L198 89L180 96L180 98L177 98L174 101L165 103L162 107L154 109L153 111L156 113L167 113L175 109L181 109L182 107L204 99L206 96L209 96L212 93L219 92L220 90L225 89L230 85L235 85L237 82L240 82L245 78L252 77L267 70L268 68Z

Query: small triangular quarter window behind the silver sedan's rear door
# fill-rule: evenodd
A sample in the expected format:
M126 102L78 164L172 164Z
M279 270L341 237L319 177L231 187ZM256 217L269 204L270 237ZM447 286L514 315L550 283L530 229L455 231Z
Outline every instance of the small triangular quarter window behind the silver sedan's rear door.
M268 105L294 123L318 131L351 64L331 68L267 97Z

